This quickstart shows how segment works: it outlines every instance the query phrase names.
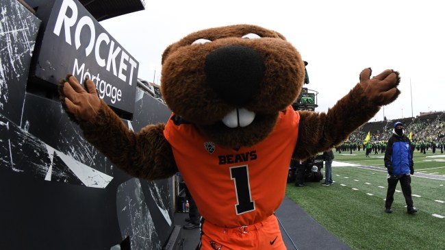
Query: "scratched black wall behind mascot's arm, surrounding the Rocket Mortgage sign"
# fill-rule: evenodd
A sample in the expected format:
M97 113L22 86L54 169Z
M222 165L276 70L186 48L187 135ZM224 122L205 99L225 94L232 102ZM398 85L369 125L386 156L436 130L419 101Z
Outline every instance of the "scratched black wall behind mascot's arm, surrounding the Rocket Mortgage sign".
M126 238L131 249L160 249L173 229L172 180L119 171L58 101L26 92L39 21L16 1L0 3L0 249L109 250ZM123 121L135 131L170 115L142 90L134 105Z

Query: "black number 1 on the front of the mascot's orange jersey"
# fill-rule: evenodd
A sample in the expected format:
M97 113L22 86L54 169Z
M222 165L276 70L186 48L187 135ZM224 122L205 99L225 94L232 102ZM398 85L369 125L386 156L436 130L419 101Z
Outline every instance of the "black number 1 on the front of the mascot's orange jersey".
M230 179L235 182L236 214L244 214L255 210L255 201L252 201L251 185L249 182L249 168L244 166L232 166Z

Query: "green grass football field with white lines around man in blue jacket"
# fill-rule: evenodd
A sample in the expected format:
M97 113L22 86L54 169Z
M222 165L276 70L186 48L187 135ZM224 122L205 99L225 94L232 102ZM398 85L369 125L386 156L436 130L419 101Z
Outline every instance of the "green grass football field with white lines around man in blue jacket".
M437 157L440 155L440 157ZM335 153L334 161L379 166L370 170L335 162L329 187L321 182L306 188L289 184L286 195L352 249L445 249L445 180L427 179L416 173L445 175L445 155L414 153L416 173L412 193L417 214L407 214L402 192L394 194L392 214L386 214L386 172L383 155ZM441 161L442 160L442 161ZM354 189L353 189L354 188ZM396 190L401 190L398 184Z

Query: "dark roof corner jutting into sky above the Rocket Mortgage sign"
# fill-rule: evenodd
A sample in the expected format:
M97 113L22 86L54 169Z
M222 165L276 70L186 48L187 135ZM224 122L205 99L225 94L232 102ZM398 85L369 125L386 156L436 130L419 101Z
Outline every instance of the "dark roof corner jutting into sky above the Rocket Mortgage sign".
M145 9L145 0L79 0L79 3L99 22Z

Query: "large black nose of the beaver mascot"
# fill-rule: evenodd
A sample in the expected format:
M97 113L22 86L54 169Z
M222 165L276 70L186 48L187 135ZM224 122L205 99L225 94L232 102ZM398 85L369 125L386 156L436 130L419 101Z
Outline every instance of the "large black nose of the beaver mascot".
M266 66L254 49L232 45L209 53L204 71L207 83L223 100L242 106L259 90Z

